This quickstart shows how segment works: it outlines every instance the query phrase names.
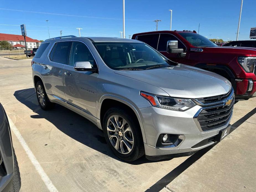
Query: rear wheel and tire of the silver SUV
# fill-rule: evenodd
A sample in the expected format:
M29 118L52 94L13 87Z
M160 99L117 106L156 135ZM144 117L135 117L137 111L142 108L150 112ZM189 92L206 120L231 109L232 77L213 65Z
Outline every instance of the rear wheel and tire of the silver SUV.
M43 86L43 83L41 81L38 81L36 84L36 94L38 104L43 110L49 110L55 106L55 103L50 102L50 100L48 99L45 92L45 87Z

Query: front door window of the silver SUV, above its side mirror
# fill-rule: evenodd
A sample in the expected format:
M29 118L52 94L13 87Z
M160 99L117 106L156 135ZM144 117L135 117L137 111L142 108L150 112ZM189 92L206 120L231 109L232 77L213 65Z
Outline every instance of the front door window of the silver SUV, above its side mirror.
M69 65L74 66L76 62L89 61L91 66L94 67L94 58L88 47L79 41L74 41L71 47Z

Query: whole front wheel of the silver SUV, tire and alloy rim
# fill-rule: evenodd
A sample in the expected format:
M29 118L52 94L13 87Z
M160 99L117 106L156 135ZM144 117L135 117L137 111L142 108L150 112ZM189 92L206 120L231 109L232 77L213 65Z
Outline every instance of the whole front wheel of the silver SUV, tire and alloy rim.
M117 157L128 162L145 154L141 128L136 118L117 107L109 108L103 118L103 132L108 145Z

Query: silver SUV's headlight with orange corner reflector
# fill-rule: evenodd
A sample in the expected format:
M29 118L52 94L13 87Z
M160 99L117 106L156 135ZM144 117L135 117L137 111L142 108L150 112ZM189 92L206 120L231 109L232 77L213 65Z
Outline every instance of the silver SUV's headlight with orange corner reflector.
M146 98L152 106L164 109L185 111L196 105L191 99L162 97L145 92L141 92L140 95Z

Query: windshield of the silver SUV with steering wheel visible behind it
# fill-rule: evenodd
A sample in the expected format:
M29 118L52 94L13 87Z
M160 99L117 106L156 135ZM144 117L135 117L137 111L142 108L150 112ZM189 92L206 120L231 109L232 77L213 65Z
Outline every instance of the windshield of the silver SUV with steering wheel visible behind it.
M144 43L94 43L105 64L115 70L139 70L170 66L167 59Z

